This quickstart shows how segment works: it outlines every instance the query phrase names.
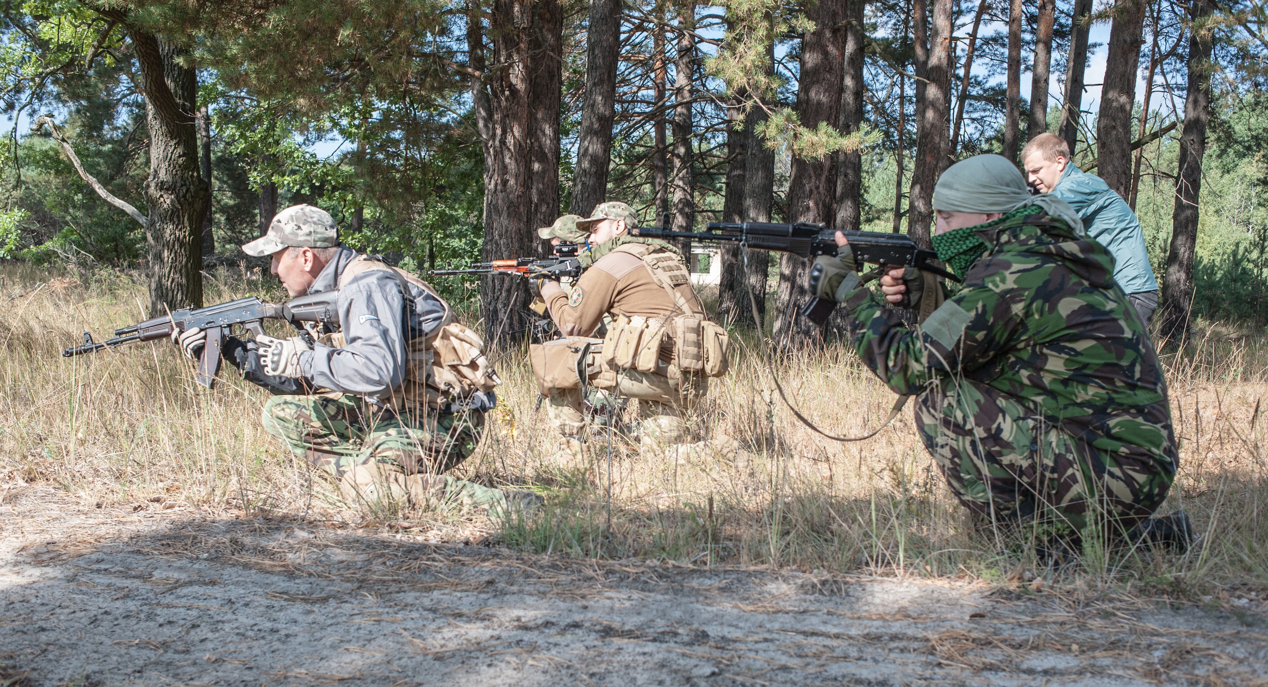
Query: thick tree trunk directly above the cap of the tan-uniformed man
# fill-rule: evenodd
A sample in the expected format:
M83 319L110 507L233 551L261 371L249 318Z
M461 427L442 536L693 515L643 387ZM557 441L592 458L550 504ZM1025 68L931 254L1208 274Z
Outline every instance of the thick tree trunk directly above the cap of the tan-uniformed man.
M621 0L591 0L590 30L586 32L586 99L581 109L577 172L573 175L569 209L582 217L590 217L595 205L607 195L620 43Z

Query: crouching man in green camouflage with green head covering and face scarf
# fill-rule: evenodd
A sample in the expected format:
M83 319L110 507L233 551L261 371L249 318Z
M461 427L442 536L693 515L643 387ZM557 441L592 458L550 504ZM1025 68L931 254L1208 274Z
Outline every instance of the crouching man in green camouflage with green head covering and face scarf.
M935 250L964 284L923 324L864 288L848 250L818 260L812 292L844 305L864 364L917 397L921 440L970 511L1073 532L1142 522L1178 456L1163 370L1113 259L1000 156L951 166L933 208ZM885 299L917 300L915 276L890 270Z

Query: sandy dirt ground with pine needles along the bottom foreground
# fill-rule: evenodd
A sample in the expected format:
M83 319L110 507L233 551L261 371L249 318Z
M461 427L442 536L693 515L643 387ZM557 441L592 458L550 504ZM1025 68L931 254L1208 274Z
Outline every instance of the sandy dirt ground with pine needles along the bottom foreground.
M0 686L1268 684L1252 610L0 503Z

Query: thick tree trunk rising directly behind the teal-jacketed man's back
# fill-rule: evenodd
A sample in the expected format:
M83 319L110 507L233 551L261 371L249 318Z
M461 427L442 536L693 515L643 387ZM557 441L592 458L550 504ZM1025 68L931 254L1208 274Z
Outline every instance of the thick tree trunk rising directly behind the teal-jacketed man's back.
M1126 200L1131 195L1131 115L1144 44L1145 0L1117 0L1113 11L1097 119L1097 174Z

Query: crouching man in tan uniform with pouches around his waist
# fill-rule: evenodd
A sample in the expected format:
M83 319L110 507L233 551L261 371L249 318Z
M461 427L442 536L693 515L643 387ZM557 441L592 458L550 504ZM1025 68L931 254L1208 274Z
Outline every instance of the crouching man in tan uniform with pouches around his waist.
M725 332L709 322L682 254L664 241L630 236L635 227L638 215L625 203L595 208L577 222L590 232L591 267L571 293L545 281L541 298L566 337L593 336L604 316L612 316L588 384L639 399L643 446L683 444L683 411L705 394L709 375L725 371ZM582 399L582 389L558 389L548 398L552 422L571 453L579 450L586 426Z

